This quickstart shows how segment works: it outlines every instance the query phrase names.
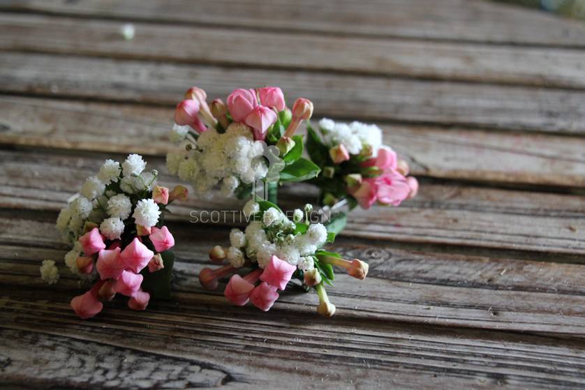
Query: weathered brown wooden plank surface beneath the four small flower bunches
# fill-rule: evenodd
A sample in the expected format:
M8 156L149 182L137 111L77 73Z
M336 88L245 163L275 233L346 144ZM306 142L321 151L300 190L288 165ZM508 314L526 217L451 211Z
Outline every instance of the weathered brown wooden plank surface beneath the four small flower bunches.
M8 0L0 30L0 387L585 387L582 24L476 0ZM402 207L351 214L335 248L370 272L336 275L332 319L299 287L269 313L202 290L238 221L189 213L241 205L222 197L173 206L172 301L71 312L57 210L112 153L176 183L165 137L193 84L378 121L422 178Z

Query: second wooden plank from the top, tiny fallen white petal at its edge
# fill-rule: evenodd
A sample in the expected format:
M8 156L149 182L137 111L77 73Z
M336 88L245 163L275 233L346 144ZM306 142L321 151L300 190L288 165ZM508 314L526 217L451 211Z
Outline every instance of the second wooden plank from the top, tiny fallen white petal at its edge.
M121 25L0 14L0 29L6 31L0 36L0 50L585 87L585 52L576 50L295 33L271 33L266 39L263 31L144 23L135 24L135 38L127 41Z

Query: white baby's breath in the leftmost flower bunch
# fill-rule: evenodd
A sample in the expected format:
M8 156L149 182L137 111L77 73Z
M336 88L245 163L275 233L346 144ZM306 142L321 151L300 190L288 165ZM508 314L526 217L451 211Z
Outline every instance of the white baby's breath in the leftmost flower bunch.
M121 237L126 226L124 221L130 216L144 227L156 225L161 211L154 200L138 200L134 205L131 200L133 195L151 191L156 185L155 173L145 172L145 167L145 161L138 154L129 155L121 165L105 160L98 174L87 178L80 193L61 209L57 230L64 241L77 246L77 239L84 234L87 223L97 225L109 240ZM75 260L80 252L80 248L73 248L65 257L72 271L77 270Z

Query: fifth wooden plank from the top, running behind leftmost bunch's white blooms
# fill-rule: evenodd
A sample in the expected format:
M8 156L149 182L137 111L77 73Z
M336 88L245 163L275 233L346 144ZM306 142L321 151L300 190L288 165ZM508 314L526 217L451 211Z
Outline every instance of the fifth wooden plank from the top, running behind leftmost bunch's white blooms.
M105 155L73 151L38 150L34 154L3 151L0 207L57 211L80 188L85 177L98 170L105 158ZM161 172L162 183L177 182L163 174L165 167L161 159L149 158L148 168ZM316 192L307 185L297 184L281 191L284 207L299 207L315 199ZM242 202L220 196L212 200L192 199L175 209L175 218L209 218L209 211L215 210L221 213L218 217L225 217L225 223L232 224L232 213L223 211L238 210L241 206ZM343 234L582 255L585 253L584 209L585 199L577 195L423 182L420 195L401 207L355 209Z

